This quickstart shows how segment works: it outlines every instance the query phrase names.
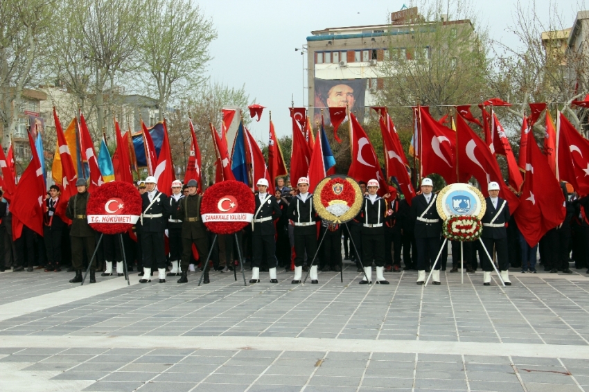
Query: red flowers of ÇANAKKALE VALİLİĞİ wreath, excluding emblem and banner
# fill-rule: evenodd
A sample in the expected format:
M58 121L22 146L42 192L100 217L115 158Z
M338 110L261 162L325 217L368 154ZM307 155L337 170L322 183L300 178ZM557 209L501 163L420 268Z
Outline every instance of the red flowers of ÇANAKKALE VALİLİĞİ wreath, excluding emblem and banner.
M227 196L232 196L236 199L236 206L234 207L234 210L231 211L231 214L227 215L252 215L254 213L256 202L254 199L254 193L252 193L252 190L249 188L249 186L243 184L243 182L240 181L229 180L213 184L204 191L204 195L202 195L202 202L200 204L201 215L218 215L223 213L224 211L221 211L219 206L222 205L222 199L227 199ZM216 234L237 233L249 224L249 222L242 220L231 220L231 216L229 216L228 220L226 221L206 221L204 219L203 221L206 229L209 229Z

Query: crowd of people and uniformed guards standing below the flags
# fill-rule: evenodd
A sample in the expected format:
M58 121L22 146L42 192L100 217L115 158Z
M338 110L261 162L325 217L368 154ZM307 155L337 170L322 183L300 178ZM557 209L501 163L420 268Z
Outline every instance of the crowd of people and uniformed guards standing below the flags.
M89 266L90 283L96 283L96 272L101 276L123 276L125 267L126 271L139 272L140 283L150 282L156 274L159 283L166 283L170 276L179 276L177 283L186 283L188 272L197 269L204 271L204 283L209 283L211 269L222 273L239 268L241 253L245 268L251 269L249 283L260 282L260 273L266 271L270 283L278 283L276 269L282 268L294 272L293 284L301 282L303 271L309 272L311 283L315 284L319 282L318 271L339 272L343 262L349 261L362 273L360 284L388 284L384 273L398 273L402 269L418 271L417 283L423 284L425 274L433 267L432 283L439 285L439 271L446 271L448 245L440 249L442 220L435 207L437 194L431 179L423 179L421 191L411 201L399 195L394 186L380 190L374 179L359 184L364 193L360 213L346 224L333 224L322 222L317 215L306 177L292 186L288 179L280 178L272 188L267 180L259 179L252 224L237 235L218 235L213 240L214 234L202 222L202 195L197 193L195 180L186 185L173 181L167 191L158 190L155 178L148 177L136 184L143 206L132 233L122 237L103 235L98 244L100 234L87 222L87 183L78 179L78 193L67 204L66 215L72 220L71 225L55 214L60 188L49 189L43 236L24 226L21 236L13 241L10 205L2 199L0 271L67 270L75 272L70 282L79 283L98 244L96 257ZM587 268L588 201L574 193L569 195L564 184L561 188L566 200L565 220L531 247L510 217L507 201L498 197L499 184L491 182L482 218L482 242L464 242L461 247L459 242L449 241L450 273L459 271L464 260L466 272L482 269L483 284L490 285L490 256L504 283L510 285L509 268L521 267L522 273L536 273L538 253L545 271L570 274L570 262L577 269ZM205 260L209 253L209 260ZM441 256L434 263L438 253Z

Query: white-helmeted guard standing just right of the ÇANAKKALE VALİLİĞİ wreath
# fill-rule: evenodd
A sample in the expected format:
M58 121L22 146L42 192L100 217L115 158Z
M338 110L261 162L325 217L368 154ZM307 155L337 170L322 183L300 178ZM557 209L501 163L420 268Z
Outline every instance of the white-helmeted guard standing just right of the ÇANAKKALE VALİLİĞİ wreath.
M278 283L276 279L276 240L274 235L274 219L282 215L282 211L276 197L268 190L268 181L265 178L258 179L258 195L256 195L256 208L252 220L252 246L254 255L252 258L252 279L249 283L260 282L260 265L262 257L265 257L270 273L270 283Z

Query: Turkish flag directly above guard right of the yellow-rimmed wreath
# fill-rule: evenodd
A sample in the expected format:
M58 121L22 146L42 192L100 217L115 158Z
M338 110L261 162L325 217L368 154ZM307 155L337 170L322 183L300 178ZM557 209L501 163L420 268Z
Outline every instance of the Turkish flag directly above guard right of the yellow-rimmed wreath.
M348 170L348 175L356 181L368 182L376 179L380 184L379 195L387 193L389 185L383 177L380 170L380 163L376 157L376 152L372 147L366 132L358 123L358 119L350 113L350 143L352 145L352 164Z

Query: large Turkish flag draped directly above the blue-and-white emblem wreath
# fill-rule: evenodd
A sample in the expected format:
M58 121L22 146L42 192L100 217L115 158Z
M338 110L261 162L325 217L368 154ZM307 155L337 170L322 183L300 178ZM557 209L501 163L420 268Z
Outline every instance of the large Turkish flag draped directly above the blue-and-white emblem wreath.
M466 124L462 116L456 116L458 133L458 161L460 172L473 175L481 186L483 195L489 195L489 182L500 186L499 195L509 203L509 212L518 208L518 197L505 185L497 160L482 139Z

